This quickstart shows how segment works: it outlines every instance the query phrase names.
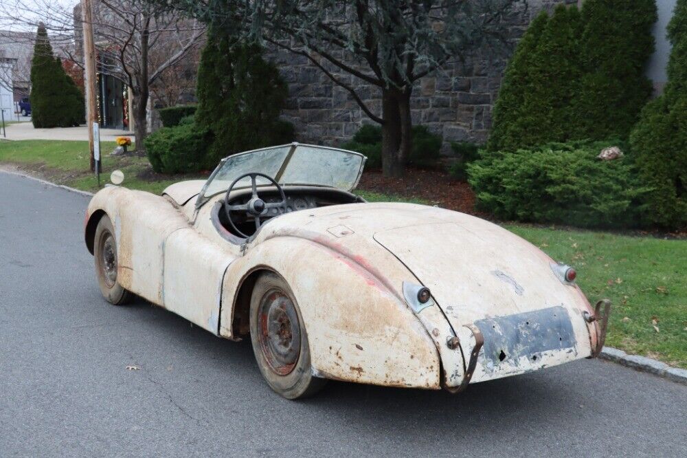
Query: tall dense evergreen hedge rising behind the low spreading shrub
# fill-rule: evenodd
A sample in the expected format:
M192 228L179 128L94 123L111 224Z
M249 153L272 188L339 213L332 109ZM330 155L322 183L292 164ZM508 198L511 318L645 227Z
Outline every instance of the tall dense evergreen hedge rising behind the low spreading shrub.
M655 21L655 0L586 0L581 12L541 12L506 67L488 149L627 138L651 94L644 67Z

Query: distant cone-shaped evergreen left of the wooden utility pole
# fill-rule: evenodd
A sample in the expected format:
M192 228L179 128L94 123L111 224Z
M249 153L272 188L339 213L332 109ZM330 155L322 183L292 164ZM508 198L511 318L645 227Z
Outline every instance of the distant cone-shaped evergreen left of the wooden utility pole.
M60 58L53 55L43 23L36 32L30 98L34 127L72 127L85 122L84 98Z

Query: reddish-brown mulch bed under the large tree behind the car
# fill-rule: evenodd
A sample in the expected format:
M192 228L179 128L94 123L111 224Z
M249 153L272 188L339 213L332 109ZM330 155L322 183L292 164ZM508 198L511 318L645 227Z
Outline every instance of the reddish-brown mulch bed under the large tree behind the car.
M480 215L475 211L475 193L470 185L441 170L408 168L403 178L385 178L381 171L365 171L358 189L414 197L449 210Z

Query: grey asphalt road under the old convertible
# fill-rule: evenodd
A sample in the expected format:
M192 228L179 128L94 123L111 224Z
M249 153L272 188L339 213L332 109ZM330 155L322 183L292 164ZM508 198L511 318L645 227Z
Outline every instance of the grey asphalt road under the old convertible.
M331 382L283 400L249 343L105 303L87 202L0 172L1 457L687 456L687 386L599 360L462 395Z

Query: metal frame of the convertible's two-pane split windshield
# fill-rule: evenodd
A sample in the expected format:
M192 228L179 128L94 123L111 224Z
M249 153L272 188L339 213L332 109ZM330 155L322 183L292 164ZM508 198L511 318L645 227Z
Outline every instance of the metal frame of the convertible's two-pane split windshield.
M271 150L271 149L285 148L287 146L289 147L289 152L286 154L284 161L280 165L278 175L281 175L282 173L284 173L284 170L285 170L286 166L288 166L289 161L291 160L291 157L293 157L293 153L295 153L296 149L299 146L305 146L305 147L316 148L316 149L328 149L330 151L338 151L341 153L348 153L348 154L357 155L357 156L361 157L362 159L361 159L360 167L358 170L358 174L357 174L352 186L350 186L350 189L344 189L347 192L351 192L352 190L354 190L358 186L358 184L360 182L360 177L361 177L361 175L363 175L363 169L365 168L365 162L367 162L367 160L368 160L367 156L365 156L361 153L358 153L357 151L350 151L348 149L342 149L342 148L334 148L333 146L320 146L320 145L316 145L316 144L299 143L299 142L286 143L286 144L280 144L280 145L275 145L275 146L265 146L264 148L251 149L250 151L243 151L242 153L232 154L232 155L229 155L227 157L223 157L222 160L220 160L219 164L215 167L214 171L212 171L210 176L207 177L207 181L205 182L205 184L203 184L203 188L201 188L201 192L199 193L198 198L196 199L196 208L201 207L203 204L205 204L205 202L212 199L212 197L214 197L218 194L227 192L228 186L227 186L227 188L223 188L223 190L218 190L215 193L212 193L211 195L205 195L205 192L207 191L207 188L210 186L210 183L216 177L216 175L219 173L219 171L223 168L225 162L227 162L227 160L229 160L229 158L235 158L238 156L258 153L260 151L267 151L267 150ZM269 184L258 184L258 187L265 187L265 186L269 187L269 186L274 186L274 185L271 183L269 183ZM340 189L340 188L336 188L333 186L327 186L324 184L312 184L312 183L280 183L280 186L313 186L316 188ZM238 189L245 189L245 188L250 188L250 186L240 186L240 187L236 187L234 189L238 190Z

